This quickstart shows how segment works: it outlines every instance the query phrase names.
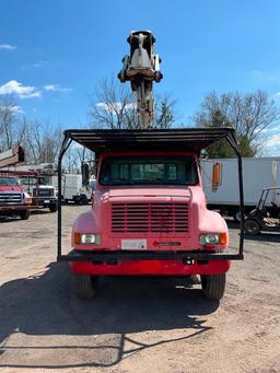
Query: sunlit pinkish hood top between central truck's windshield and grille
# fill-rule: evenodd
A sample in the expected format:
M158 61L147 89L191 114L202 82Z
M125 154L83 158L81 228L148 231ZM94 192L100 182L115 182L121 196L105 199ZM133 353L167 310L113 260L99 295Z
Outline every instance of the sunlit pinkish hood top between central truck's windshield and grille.
M174 186L174 187L136 187L136 188L117 188L110 189L103 195L103 199L109 199L110 201L130 200L133 198L161 198L161 199L173 199L173 198L191 198L191 189L186 186Z

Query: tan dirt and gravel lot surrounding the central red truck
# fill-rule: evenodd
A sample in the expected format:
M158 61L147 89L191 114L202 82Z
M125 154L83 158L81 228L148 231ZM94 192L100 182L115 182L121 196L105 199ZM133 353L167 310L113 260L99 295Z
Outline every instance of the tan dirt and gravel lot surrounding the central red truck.
M84 209L63 207L66 246ZM280 235L246 241L219 306L163 278L103 278L79 300L55 228L48 212L0 222L1 372L280 372Z

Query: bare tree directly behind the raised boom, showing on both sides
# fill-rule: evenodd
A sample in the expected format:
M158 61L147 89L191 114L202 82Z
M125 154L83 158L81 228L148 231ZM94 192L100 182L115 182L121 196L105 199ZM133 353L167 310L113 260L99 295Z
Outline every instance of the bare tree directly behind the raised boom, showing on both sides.
M110 129L138 129L136 97L128 84L114 77L104 79L90 98L90 126ZM155 100L153 128L168 128L175 121L175 101L168 95Z

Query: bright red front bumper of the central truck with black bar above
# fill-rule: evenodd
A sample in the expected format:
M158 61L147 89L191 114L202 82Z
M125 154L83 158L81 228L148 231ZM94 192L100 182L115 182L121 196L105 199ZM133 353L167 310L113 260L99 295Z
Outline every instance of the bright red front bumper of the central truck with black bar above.
M72 250L58 260L70 261L75 273L84 275L214 275L230 269L231 259L242 260L238 254L214 252L82 252Z

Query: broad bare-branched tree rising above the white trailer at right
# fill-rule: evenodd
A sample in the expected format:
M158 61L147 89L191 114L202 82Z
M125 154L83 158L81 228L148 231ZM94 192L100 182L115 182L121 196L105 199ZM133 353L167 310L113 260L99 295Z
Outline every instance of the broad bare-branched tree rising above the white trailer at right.
M265 130L280 119L280 108L264 91L242 94L229 92L206 95L194 121L199 127L231 126L240 142L256 153Z

